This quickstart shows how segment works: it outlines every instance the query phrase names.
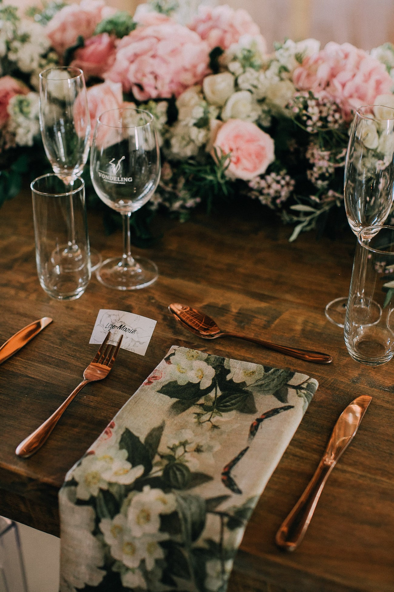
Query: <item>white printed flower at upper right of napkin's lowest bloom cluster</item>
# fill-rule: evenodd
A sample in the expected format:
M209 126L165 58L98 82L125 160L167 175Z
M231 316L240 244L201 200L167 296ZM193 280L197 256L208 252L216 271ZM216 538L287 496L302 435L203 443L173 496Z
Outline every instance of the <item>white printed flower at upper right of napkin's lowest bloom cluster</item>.
M134 536L153 535L160 527L159 514L171 514L176 509L173 493L165 494L161 489L144 489L135 494L127 511L128 526Z

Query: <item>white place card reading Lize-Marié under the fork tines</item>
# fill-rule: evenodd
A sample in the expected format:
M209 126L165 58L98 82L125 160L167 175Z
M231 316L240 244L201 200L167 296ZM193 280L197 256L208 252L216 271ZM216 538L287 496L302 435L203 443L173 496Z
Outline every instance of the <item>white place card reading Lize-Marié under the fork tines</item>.
M122 349L145 356L156 322L152 318L141 317L139 314L102 308L97 314L89 343L102 343L110 331L108 343L115 345L118 343L119 336L123 335Z

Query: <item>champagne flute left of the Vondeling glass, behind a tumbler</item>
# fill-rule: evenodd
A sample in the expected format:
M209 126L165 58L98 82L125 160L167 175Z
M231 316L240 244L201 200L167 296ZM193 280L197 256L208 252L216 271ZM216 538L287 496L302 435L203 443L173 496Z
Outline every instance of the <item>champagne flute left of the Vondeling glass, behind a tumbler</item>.
M90 115L82 70L70 66L51 67L40 73L40 127L45 153L53 172L64 184L73 185L82 174L89 155ZM74 213L70 204L70 236L65 252L72 259L78 245L75 240ZM92 269L102 261L90 250Z

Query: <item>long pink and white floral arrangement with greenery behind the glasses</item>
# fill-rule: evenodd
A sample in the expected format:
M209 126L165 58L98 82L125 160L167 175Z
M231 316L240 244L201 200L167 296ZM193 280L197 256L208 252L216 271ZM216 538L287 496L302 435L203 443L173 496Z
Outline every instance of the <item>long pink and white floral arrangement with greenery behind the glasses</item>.
M175 0L133 17L103 0L55 0L30 18L0 8L0 201L40 144L38 72L59 63L83 69L93 128L125 101L154 115L163 166L146 216L255 200L295 224L290 240L327 221L335 230L354 111L394 107L394 46L288 39L269 52L242 9L200 5L185 24L177 15Z

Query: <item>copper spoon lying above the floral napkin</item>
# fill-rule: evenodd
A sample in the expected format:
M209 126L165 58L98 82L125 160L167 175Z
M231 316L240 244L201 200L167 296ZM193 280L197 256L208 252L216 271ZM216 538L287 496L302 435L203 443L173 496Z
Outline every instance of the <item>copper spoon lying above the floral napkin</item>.
M217 339L217 337L239 337L253 343L258 343L267 349L273 349L276 352L285 353L293 358L306 360L307 362L314 362L316 364L329 364L333 358L327 353L311 352L308 349L288 348L285 345L278 345L278 343L271 343L263 339L256 339L256 337L247 337L239 333L228 333L222 331L213 318L207 314L200 313L196 308L185 306L183 304L170 304L168 310L180 323L192 333L203 337L203 339Z

